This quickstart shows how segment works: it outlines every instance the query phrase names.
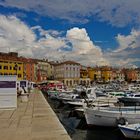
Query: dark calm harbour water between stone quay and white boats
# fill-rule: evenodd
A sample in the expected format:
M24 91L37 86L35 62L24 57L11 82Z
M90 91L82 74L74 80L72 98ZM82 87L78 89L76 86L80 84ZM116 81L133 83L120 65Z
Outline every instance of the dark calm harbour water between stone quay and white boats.
M128 140L118 128L87 127L84 119L70 117L71 108L47 99L72 140Z

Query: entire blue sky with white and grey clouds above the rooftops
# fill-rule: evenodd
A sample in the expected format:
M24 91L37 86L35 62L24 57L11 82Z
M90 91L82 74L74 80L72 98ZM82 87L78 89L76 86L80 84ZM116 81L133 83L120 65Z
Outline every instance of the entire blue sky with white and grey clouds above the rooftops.
M139 9L139 0L0 0L0 51L139 67Z

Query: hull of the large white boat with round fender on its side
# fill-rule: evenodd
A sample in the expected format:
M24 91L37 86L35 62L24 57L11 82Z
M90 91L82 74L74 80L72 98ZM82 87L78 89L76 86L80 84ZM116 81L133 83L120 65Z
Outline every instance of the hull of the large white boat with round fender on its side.
M92 108L85 108L84 114L88 125L117 127L118 124L129 124L140 122L140 112L131 113L119 111L107 111Z

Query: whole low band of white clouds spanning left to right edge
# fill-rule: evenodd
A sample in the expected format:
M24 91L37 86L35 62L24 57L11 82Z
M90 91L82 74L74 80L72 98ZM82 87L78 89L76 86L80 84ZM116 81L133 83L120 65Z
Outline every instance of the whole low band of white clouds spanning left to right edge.
M38 32L38 34L36 34ZM116 36L118 48L102 51L91 41L85 28L74 27L65 33L29 27L14 16L0 15L0 51L16 51L19 55L62 61L74 60L86 66L132 66L140 62L140 31Z

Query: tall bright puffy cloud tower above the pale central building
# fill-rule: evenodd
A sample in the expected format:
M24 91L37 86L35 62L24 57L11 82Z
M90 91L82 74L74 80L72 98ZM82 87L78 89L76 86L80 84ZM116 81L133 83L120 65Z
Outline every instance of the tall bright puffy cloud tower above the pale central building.
M104 61L106 65L108 64L103 58L101 48L93 44L84 28L72 28L67 31L66 37L72 44L73 57L76 56L82 63L101 65Z

